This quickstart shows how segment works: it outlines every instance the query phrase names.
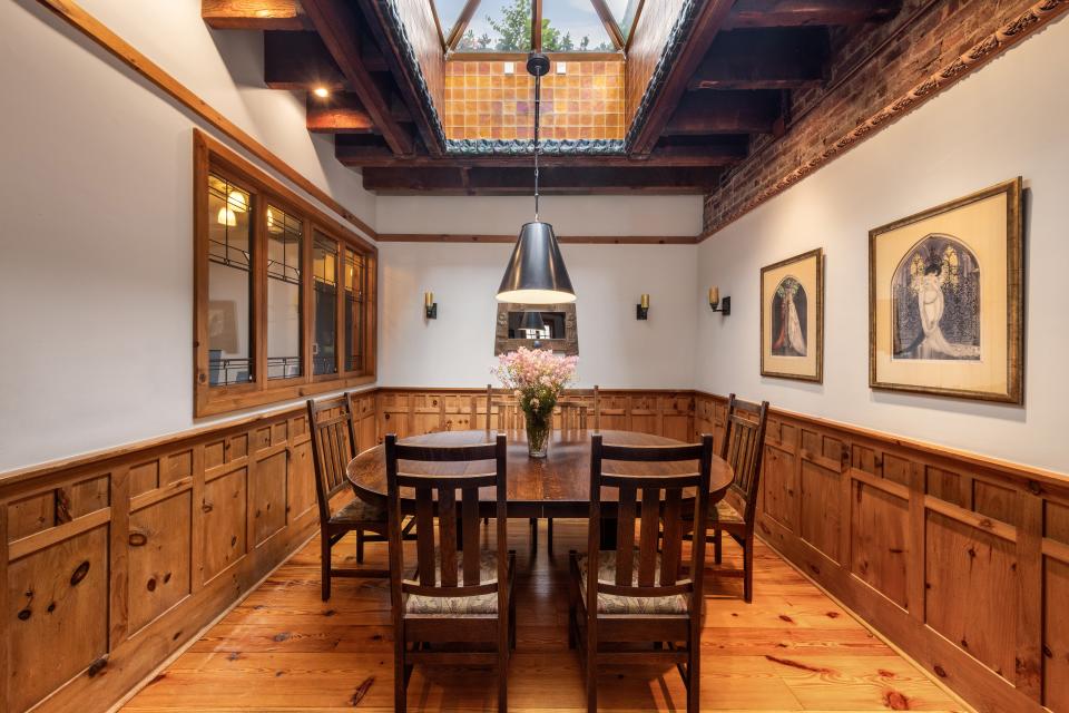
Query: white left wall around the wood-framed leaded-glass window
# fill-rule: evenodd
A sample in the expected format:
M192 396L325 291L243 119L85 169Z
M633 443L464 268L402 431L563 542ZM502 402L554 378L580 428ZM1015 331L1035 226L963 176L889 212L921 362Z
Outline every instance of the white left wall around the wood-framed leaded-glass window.
M208 30L198 0L80 4L374 223L303 98L263 87L259 33ZM194 426L193 128L207 127L35 0L0 2L0 28L2 472Z

